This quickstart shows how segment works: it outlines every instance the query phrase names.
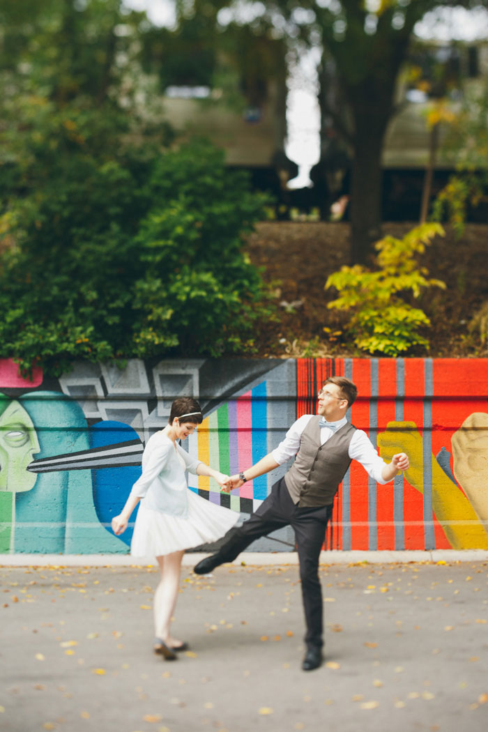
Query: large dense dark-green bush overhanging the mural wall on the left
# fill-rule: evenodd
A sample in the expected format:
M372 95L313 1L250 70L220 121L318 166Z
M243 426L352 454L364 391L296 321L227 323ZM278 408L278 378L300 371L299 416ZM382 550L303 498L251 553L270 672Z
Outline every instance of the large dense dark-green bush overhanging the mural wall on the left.
M73 359L253 348L269 314L242 236L263 214L247 177L195 142L146 166L86 157L0 220L0 356Z

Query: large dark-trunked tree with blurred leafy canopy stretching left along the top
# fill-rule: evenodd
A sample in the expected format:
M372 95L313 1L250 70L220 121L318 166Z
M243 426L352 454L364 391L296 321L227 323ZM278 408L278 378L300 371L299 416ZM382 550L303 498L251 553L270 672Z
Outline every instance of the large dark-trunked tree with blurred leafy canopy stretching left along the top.
M293 57L304 48L319 48L321 151L315 184L325 198L334 193L334 174L350 168L351 260L364 263L372 242L380 238L381 155L388 123L397 111L397 80L414 26L437 7L487 4L487 0L175 0L176 29L151 29L145 58L146 63L156 62L162 78L178 67L175 79L198 83L198 78L205 78L205 83L214 84L219 80L221 87L225 68L233 66L244 87L249 83L259 94L269 75L285 78ZM262 53L265 46L273 49L271 63ZM248 98L249 86L244 89Z

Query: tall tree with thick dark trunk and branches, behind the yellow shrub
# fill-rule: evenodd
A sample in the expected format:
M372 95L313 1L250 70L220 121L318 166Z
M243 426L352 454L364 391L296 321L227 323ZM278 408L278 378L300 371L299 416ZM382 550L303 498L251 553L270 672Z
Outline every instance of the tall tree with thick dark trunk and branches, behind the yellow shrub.
M242 2L219 3L241 9ZM380 236L381 155L394 94L413 29L435 7L487 5L486 0L262 0L247 7L252 29L268 25L283 49L320 48L320 175L350 158L351 260L365 263ZM196 7L191 0L187 6ZM236 17L242 18L237 12ZM216 16L218 20L218 16ZM247 21L240 20L241 25ZM236 21L237 23L237 21ZM237 24L239 24L237 23Z

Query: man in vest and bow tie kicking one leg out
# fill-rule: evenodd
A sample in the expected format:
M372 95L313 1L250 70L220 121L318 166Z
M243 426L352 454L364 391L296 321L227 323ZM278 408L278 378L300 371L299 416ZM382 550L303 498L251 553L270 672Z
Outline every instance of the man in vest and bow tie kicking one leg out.
M387 464L363 430L350 425L345 415L356 400L355 384L344 376L326 379L318 392L318 416L304 414L291 425L279 446L251 468L230 477L226 493L248 480L277 468L296 455L285 477L276 482L268 498L237 529L231 529L217 553L202 559L194 571L205 575L233 561L259 537L282 526L292 526L299 554L301 593L307 633L307 651L301 668L312 671L322 662L322 589L318 577L320 550L332 515L334 496L351 460L358 460L378 483L387 483L408 468L405 452Z

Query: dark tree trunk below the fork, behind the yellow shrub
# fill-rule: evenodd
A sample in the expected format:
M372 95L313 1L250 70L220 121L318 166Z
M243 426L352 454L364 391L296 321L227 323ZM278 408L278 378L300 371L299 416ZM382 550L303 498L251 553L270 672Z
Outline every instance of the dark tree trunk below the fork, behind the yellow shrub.
M383 129L367 119L356 123L350 182L351 264L370 264L372 244L381 237L383 137Z

